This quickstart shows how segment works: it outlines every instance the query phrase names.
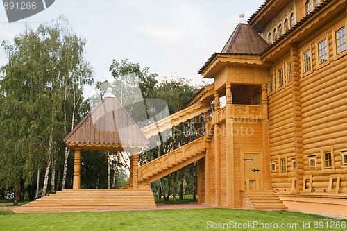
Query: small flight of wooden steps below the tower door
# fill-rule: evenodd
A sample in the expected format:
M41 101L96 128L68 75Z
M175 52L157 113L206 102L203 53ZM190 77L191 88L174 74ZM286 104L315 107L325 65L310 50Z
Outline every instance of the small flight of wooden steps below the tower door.
M245 192L255 209L288 209L274 191L247 190Z

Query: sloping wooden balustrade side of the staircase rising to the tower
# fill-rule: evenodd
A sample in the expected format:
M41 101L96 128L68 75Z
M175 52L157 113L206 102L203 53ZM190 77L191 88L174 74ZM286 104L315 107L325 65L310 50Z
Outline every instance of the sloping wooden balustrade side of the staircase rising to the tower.
M175 149L170 153L162 155L151 162L139 167L139 185L149 184L169 173L192 164L196 160L205 157L206 145L205 137L200 137L185 146ZM129 186L126 186L129 187Z

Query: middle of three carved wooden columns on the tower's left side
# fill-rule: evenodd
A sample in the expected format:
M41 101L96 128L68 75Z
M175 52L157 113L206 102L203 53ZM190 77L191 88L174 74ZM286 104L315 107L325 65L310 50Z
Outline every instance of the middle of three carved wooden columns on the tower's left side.
M219 93L214 92L214 114L217 115L219 107ZM215 117L216 120L218 119ZM217 122L217 121L216 121ZM215 198L216 198L216 207L221 206L221 153L220 153L220 135L221 131L219 130L219 124L214 124L214 166L216 171L215 180Z

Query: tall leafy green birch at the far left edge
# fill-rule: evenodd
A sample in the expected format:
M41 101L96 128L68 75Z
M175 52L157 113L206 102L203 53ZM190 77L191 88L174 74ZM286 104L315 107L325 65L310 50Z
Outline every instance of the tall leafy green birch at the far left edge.
M62 148L58 144L73 126L82 102L83 85L93 81L92 69L83 58L85 40L59 17L36 31L27 26L13 44L3 42L2 46L8 64L1 67L0 140L4 148L0 178L17 194L19 181L23 178L28 186L35 169L45 166L44 196L51 166Z

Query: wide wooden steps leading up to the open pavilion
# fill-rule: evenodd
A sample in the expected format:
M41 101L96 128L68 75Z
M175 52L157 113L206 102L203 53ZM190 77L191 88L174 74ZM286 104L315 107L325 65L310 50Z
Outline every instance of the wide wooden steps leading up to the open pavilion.
M63 189L15 209L15 212L78 212L156 209L151 190Z

